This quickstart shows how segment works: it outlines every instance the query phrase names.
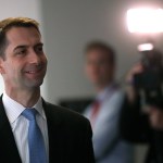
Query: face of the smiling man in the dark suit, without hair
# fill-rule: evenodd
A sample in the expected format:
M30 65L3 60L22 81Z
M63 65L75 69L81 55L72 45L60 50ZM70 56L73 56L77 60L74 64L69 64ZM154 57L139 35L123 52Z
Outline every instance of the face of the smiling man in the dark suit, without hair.
M47 58L41 36L34 27L12 27L7 32L5 59L0 58L0 72L7 88L38 88L46 75Z

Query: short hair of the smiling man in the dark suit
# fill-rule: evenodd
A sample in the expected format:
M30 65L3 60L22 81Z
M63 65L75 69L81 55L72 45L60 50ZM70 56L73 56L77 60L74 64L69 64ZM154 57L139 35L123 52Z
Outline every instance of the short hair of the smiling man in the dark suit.
M28 17L9 17L0 21L0 57L5 58L4 51L8 46L7 33L12 27L35 27L39 32L37 21ZM40 32L39 32L40 33Z

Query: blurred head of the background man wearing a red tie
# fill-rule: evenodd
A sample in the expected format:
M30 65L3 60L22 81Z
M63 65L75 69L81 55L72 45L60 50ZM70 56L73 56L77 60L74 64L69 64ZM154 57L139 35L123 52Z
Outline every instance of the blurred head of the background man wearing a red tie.
M102 41L91 41L86 46L86 74L97 89L103 89L114 80L115 52Z

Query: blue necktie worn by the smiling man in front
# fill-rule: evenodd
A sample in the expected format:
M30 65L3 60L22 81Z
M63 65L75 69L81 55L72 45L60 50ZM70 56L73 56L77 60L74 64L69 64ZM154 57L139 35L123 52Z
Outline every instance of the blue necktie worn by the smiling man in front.
M35 109L26 109L22 115L29 121L28 128L28 148L29 163L47 163L47 154L43 137L36 122L37 111Z

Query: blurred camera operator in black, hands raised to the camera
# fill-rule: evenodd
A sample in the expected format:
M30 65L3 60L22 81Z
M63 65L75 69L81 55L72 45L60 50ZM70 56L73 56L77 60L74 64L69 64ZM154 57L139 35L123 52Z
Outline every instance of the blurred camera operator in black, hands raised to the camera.
M127 75L121 133L130 142L149 145L146 163L163 163L163 101L160 108L145 105L141 91L134 86L134 76L143 72L142 63L138 63Z

